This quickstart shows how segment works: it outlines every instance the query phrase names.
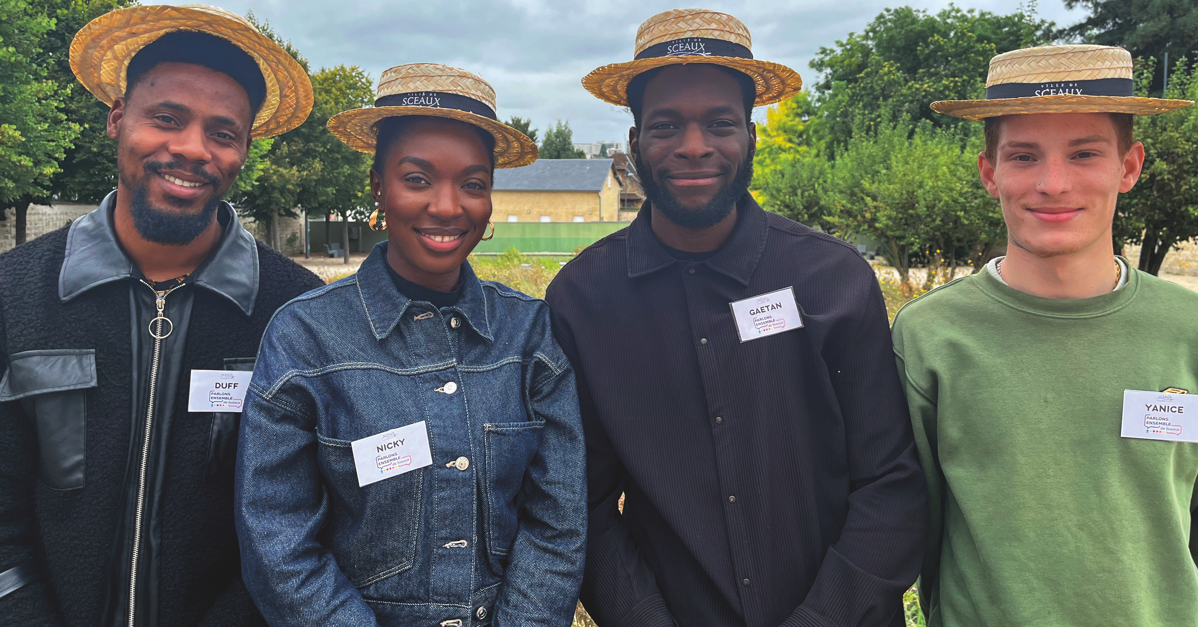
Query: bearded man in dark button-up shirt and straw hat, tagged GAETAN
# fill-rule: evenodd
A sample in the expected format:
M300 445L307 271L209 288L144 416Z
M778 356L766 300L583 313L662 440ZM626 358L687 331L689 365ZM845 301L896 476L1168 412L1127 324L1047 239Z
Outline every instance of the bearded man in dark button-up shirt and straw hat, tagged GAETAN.
M925 493L882 293L748 194L752 106L801 86L750 47L667 11L583 79L631 109L648 200L547 296L587 436L582 602L600 625L902 626Z

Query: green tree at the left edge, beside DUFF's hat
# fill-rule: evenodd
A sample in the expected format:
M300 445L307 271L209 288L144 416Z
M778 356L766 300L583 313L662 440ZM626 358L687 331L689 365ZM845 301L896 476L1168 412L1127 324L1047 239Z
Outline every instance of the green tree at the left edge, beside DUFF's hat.
M79 134L62 112L71 85L43 60L55 18L28 0L0 0L0 207L16 208L17 244L25 242L29 205L46 197L59 162Z

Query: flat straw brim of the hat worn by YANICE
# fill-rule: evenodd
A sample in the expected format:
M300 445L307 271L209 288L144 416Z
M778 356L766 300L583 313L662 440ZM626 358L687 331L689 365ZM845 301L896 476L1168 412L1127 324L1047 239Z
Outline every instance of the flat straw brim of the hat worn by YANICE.
M980 122L987 117L1021 114L1132 114L1155 115L1193 104L1191 101L1142 98L1138 96L1078 96L1058 93L993 101L937 101L932 110Z

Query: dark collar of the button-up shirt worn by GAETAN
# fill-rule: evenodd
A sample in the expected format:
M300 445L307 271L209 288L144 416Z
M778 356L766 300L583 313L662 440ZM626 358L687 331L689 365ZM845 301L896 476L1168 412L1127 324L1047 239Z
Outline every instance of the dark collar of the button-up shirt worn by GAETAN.
M744 286L749 285L766 249L766 211L749 194L737 202L737 225L720 251L701 263L725 274ZM653 213L649 201L641 205L636 220L628 227L628 278L652 274L678 260L670 256L653 235Z

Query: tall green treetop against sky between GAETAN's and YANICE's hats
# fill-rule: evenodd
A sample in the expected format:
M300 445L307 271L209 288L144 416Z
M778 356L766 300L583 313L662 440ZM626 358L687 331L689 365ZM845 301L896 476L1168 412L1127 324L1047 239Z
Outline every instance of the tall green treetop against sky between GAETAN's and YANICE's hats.
M823 74L815 93L835 145L848 140L859 117L870 123L908 116L958 124L928 105L982 97L992 56L1047 43L1053 28L1022 10L1000 16L954 5L936 14L909 6L887 8L864 32L819 48L811 61Z

